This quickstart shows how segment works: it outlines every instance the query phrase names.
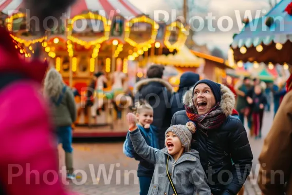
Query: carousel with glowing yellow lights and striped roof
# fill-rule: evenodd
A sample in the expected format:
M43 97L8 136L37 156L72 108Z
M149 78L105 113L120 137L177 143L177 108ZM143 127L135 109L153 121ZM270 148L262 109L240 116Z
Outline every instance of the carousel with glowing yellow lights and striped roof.
M158 56L180 52L188 33L180 21L154 21L128 0L77 0L41 38L37 22L27 19L23 2L4 0L0 11L0 22L5 21L19 52L25 51L30 60L36 44L41 44L42 58L78 91L75 126L83 126L76 128L78 132L86 130L75 132L75 137L94 136L93 127L98 126L107 126L111 132L97 136L126 135L122 126L125 111L133 103L130 91L142 77L139 68L157 62Z

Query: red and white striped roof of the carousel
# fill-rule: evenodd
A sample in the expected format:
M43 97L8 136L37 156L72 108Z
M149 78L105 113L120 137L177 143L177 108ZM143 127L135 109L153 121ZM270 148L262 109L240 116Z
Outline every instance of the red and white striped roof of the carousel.
M0 0L0 11L8 15L16 13L23 7L22 0ZM69 8L66 16L73 18L86 10L98 11L100 15L108 18L115 14L120 14L126 18L132 18L143 14L128 0L77 0L74 5Z

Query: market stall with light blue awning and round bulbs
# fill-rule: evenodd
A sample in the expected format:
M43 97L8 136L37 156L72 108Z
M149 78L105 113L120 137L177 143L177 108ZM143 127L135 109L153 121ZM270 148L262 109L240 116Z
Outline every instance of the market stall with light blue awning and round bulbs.
M279 77L287 79L287 70L292 64L291 22L291 0L280 1L262 18L245 19L243 30L234 35L230 45L230 60L239 68L246 62L252 63L253 69L250 72L258 74L263 81L272 82Z

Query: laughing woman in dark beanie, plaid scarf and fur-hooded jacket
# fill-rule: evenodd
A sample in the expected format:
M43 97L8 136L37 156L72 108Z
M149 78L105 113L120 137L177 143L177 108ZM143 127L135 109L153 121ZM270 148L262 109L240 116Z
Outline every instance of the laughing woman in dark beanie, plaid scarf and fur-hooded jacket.
M203 79L185 93L183 103L185 111L177 112L171 124L196 124L192 148L199 151L212 194L237 195L250 174L253 154L244 126L231 116L234 94L224 85Z

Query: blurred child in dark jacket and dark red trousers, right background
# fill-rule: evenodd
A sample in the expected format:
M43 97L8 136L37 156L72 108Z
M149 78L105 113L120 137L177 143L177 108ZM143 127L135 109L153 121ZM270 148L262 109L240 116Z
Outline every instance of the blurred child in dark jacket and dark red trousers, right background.
M266 104L267 104L267 98L263 94L261 86L256 85L254 89L253 105L252 105L253 125L254 125L254 132L255 132L256 138L261 138L259 113L261 110L265 108Z

